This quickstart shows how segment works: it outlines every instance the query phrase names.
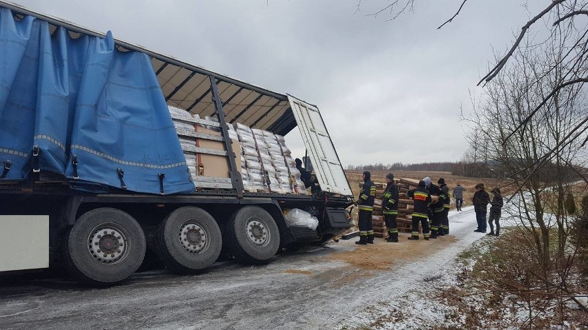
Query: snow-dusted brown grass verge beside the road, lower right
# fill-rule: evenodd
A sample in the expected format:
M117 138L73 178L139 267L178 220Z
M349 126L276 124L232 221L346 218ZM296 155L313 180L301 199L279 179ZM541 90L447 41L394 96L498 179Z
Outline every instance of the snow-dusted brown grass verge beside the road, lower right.
M466 329L574 329L574 324L584 329L588 316L570 307L556 285L561 274L542 269L520 229L505 229L498 238L482 238L456 259L458 284L438 298L459 312L446 318L461 322ZM567 274L567 289L586 294L578 268L574 269ZM542 272L548 274L551 285L537 276ZM440 325L435 329L451 328Z

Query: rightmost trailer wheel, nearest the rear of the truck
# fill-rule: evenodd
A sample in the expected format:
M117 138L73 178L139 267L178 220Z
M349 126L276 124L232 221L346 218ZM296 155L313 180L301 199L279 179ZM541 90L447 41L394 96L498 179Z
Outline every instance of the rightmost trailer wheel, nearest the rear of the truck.
M280 231L266 210L246 206L228 220L226 240L237 260L262 264L275 256L280 248Z

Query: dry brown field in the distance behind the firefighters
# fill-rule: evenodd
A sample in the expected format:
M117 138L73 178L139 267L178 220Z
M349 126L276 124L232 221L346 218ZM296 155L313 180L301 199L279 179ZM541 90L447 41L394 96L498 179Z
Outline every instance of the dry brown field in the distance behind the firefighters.
M449 187L449 192L451 193L451 208L455 208L455 200L453 200L453 187L458 183L465 188L464 191L464 206L471 205L471 198L473 197L473 193L476 192L476 188L474 188L478 183L484 183L484 187L486 187L486 191L490 192L492 187L500 187L500 185L504 185L503 180L491 179L491 178L467 178L465 176L455 176L451 174L451 172L426 172L426 171L381 171L375 170L370 171L371 178L373 182L376 183L386 183L386 174L392 172L395 178L412 178L415 180L422 180L425 176L429 176L433 183L437 183L439 178L444 178L445 183ZM345 175L349 180L349 184L351 185L351 190L353 191L353 196L357 198L358 193L360 192L360 182L362 182L362 173L363 171L355 171L355 170L345 170ZM501 189L502 194L507 194L508 191L504 191ZM492 194L490 194L490 198L492 198Z

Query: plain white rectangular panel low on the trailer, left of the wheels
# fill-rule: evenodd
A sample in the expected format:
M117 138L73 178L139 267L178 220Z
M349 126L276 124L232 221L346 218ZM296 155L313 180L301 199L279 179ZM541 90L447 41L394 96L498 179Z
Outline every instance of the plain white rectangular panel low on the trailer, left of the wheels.
M49 216L0 216L0 271L49 267Z

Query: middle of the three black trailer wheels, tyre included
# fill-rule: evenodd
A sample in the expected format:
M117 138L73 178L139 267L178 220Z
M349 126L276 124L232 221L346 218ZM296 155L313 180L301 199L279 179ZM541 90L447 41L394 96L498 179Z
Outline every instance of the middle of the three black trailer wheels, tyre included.
M192 273L217 260L222 234L213 216L204 209L180 207L157 228L156 247L168 268Z

